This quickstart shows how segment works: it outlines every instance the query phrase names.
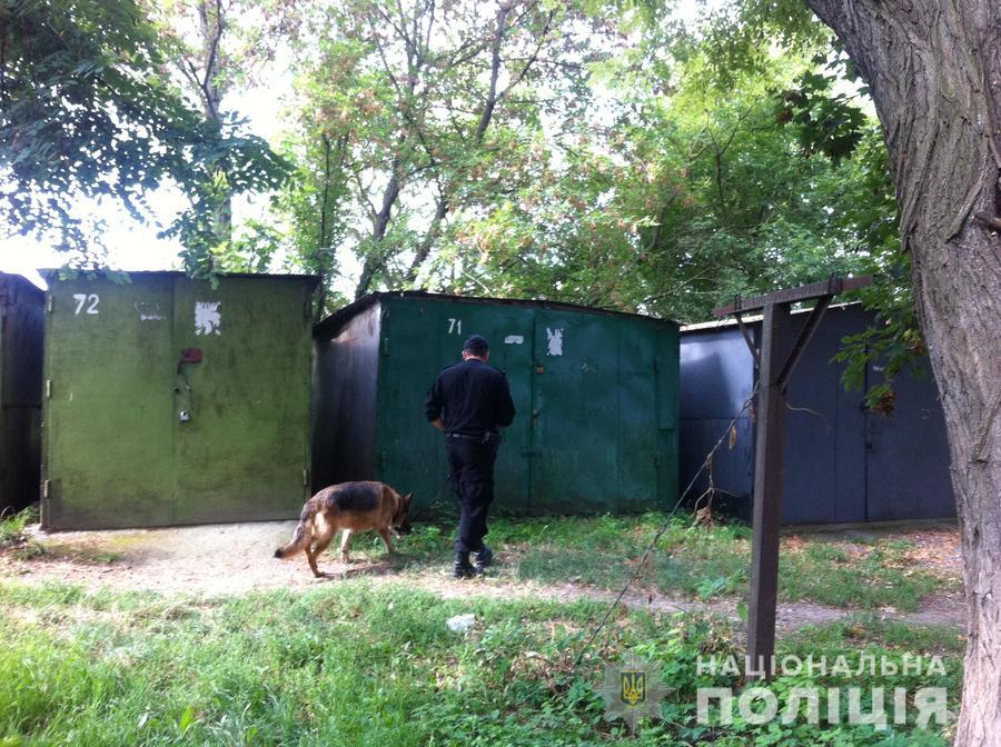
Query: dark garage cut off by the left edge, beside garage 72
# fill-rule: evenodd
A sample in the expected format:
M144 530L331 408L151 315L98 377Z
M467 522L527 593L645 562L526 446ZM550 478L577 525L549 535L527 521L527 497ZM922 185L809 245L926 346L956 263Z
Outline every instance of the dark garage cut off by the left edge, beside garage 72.
M38 500L44 295L0 272L0 514Z

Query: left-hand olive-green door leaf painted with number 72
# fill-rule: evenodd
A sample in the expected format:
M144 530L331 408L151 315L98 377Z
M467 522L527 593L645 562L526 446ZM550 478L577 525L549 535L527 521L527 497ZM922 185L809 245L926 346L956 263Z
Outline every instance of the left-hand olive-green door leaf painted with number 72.
M174 278L49 282L43 524L174 524Z

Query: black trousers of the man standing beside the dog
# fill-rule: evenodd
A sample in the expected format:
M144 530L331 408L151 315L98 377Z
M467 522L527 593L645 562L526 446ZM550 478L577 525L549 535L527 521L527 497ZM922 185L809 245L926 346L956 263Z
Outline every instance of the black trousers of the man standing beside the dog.
M486 516L494 500L494 461L497 441L487 444L458 438L445 440L452 489L459 505L456 552L478 552L486 537Z

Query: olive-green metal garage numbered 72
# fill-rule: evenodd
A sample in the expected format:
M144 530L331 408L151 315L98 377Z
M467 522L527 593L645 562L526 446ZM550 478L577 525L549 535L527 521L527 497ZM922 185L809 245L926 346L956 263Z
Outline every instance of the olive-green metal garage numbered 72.
M44 527L298 514L316 278L46 279Z

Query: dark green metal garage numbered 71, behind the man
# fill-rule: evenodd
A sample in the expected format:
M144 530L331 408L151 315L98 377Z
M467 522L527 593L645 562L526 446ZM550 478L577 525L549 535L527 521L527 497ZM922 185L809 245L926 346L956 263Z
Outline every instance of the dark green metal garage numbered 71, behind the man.
M677 326L566 303L374 293L317 325L314 488L380 479L452 501L424 418L463 340L490 342L517 416L496 469L514 515L638 511L677 497Z

